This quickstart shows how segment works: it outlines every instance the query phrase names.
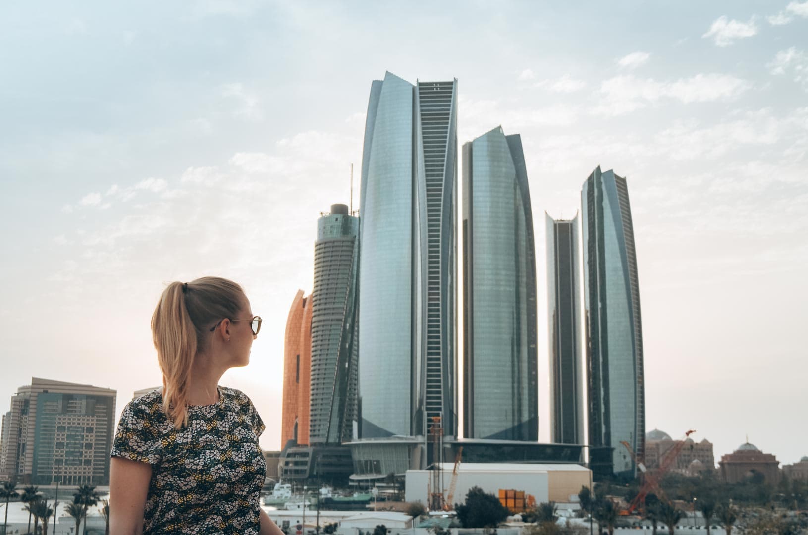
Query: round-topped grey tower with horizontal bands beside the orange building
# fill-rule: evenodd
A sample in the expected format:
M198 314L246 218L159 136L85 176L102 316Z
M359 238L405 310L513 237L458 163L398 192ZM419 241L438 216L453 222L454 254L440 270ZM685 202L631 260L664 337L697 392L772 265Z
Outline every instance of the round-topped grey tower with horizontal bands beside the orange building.
M311 444L351 440L356 422L359 218L333 204L317 223L311 319Z

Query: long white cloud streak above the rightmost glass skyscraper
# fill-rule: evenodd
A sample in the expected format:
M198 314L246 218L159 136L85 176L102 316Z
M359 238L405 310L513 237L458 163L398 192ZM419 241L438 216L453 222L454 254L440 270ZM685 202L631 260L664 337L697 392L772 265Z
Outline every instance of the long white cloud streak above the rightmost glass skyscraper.
M749 86L748 82L729 74L696 74L675 82L621 75L600 84L600 95L604 100L592 108L592 112L595 115L618 116L661 99L675 99L685 104L733 99Z

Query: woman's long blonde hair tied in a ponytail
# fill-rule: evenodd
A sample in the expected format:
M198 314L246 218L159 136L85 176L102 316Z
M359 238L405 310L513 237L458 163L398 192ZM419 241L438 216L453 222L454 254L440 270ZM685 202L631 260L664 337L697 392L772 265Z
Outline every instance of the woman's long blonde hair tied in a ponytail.
M245 305L241 286L220 277L172 282L152 315L152 337L162 370L162 410L175 428L187 424L188 378L196 351L204 349L210 329L234 318Z

